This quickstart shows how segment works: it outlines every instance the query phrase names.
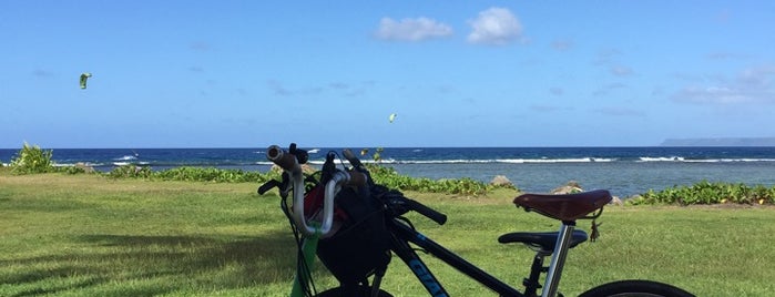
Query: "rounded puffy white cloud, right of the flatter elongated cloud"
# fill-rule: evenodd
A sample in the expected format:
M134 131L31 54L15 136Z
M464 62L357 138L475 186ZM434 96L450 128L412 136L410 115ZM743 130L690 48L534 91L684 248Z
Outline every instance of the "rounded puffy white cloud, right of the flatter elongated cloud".
M522 24L510 10L490 8L479 12L479 17L469 21L473 30L468 34L468 42L475 44L502 45L522 35Z

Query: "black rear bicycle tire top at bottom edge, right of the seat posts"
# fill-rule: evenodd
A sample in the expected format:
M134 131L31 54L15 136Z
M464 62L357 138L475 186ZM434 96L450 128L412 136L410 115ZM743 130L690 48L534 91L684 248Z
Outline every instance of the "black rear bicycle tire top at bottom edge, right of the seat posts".
M693 297L672 285L652 280L619 280L594 287L579 297Z

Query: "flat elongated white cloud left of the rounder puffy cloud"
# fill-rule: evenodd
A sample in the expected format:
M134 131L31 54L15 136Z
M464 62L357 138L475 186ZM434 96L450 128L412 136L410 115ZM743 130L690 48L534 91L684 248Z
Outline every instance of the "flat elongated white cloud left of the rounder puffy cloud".
M384 40L422 41L452 34L452 28L428 18L402 19L396 21L383 18L376 35Z

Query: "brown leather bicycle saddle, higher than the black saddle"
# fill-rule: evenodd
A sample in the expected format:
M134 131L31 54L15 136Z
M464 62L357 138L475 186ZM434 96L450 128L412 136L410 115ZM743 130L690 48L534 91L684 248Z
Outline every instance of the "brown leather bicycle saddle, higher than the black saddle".
M537 212L563 222L573 222L603 208L611 199L611 193L606 190L595 190L560 195L522 194L514 198L514 204L524 207L528 212Z

